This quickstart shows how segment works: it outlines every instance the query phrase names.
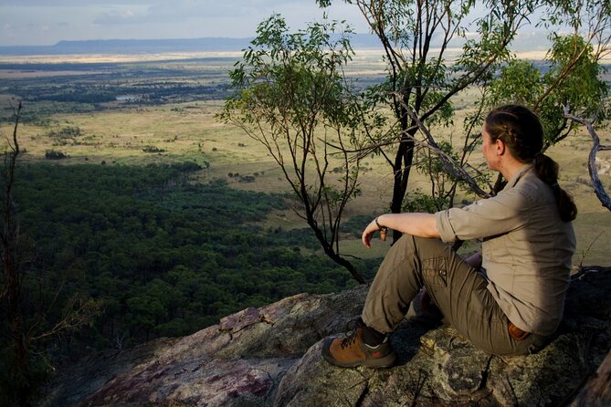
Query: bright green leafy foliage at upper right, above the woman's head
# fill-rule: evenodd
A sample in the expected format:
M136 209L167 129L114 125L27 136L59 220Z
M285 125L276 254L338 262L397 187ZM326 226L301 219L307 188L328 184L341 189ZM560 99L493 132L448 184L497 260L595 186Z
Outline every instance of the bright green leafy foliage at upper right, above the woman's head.
M548 148L578 125L567 118L565 108L571 114L599 121L609 117L609 85L601 62L611 52L611 2L559 1L547 4L546 10L539 23L550 30L545 69L513 58L490 84L488 99L490 105L513 100L536 111ZM564 30L560 35L556 33L559 25Z

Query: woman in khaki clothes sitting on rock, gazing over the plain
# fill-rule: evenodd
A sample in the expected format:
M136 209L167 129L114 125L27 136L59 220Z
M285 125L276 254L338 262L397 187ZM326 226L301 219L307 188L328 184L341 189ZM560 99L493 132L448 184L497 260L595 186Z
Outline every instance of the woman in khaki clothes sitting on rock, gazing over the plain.
M490 111L481 152L508 181L496 196L436 214L383 214L363 231L404 235L388 251L352 335L328 339L322 354L342 367L395 363L388 340L421 288L448 323L496 355L540 350L557 329L569 286L577 213L558 185L558 165L543 154L543 128L519 105ZM469 261L448 243L482 239Z

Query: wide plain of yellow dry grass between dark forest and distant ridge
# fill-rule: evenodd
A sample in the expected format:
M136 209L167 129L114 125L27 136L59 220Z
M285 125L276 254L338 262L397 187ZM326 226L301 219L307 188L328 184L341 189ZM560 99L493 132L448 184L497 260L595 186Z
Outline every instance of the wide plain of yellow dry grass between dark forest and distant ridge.
M125 57L103 59L80 56L75 57L73 62L68 60L74 64L73 67L58 67L57 64L66 65L65 57L0 60L0 65L5 64L0 67L0 109L10 110L18 98L18 95L7 90L11 86L30 86L36 89L36 86L48 86L51 79L54 83L80 82L88 86L103 83L100 80L107 80L115 88L121 88L122 92L118 94L123 95L132 94L130 84L136 81L140 84L147 82L149 85L160 86L172 81L180 82L182 87L214 86L222 89L226 82L226 71L231 68L231 57L217 57L149 56L126 60ZM79 68L83 61L87 62L89 70ZM33 63L36 63L36 68L29 65ZM96 64L111 64L111 68L104 65L106 75L100 76L100 67L96 67ZM357 54L348 74L363 78L365 82L375 81L383 75L383 68L376 54ZM182 76L181 71L184 72ZM139 77L139 72L144 72L144 77ZM128 75L130 73L131 77ZM462 131L460 118L467 113L476 97L477 89L469 89L458 98L455 101L458 110L456 127L437 131L458 137ZM77 162L93 165L132 165L191 161L204 167L198 174L200 181L223 178L235 188L259 192L288 191L288 184L268 151L258 142L249 139L242 130L216 119L215 115L222 104L223 100L218 95L215 98L206 98L205 95L197 98L189 92L184 98L163 99L162 104L117 100L97 104L94 109L86 111L71 111L68 105L57 101L26 100L26 112L36 110L37 120L28 120L19 127L21 147L26 151L23 160L42 161L45 160L46 151L53 150L68 156L68 159L58 161L58 165ZM41 118L44 120L40 120ZM54 132L57 135L66 128L78 128L79 135L64 138L53 136ZM2 122L0 131L9 136L12 133L11 123L7 120ZM603 144L611 144L611 131L608 128L600 130L599 136ZM549 153L561 164L561 183L574 194L579 207L579 215L574 223L578 237L574 264L609 266L611 214L597 201L593 188L588 183L586 164L590 147L589 135L585 130L579 130L577 134L553 147ZM608 163L608 152L606 157L604 154L600 152L599 157L606 159ZM479 151L473 154L473 161L479 161ZM374 216L385 212L390 202L393 180L389 165L380 157L368 158L364 164L368 171L362 172L360 176L363 193L349 205L345 213L346 218L355 215ZM249 177L251 182L244 182L246 175L252 176ZM427 191L425 176L414 172L412 177L413 189ZM602 173L601 179L607 192L610 192L611 175L608 172ZM299 216L291 211L276 212L267 219L258 221L265 225L281 224L284 227L305 225ZM353 256L383 256L388 249L387 243L376 243L372 249L366 251L360 241L353 237L344 239L341 245L342 250ZM473 248L473 245L469 245L465 250Z

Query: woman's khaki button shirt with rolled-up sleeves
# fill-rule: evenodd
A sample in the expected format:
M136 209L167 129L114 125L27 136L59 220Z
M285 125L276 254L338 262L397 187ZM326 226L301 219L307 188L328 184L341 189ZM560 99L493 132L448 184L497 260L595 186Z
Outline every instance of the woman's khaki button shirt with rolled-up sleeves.
M482 238L492 293L518 328L549 335L563 317L575 237L552 188L524 165L496 196L435 214L441 240Z

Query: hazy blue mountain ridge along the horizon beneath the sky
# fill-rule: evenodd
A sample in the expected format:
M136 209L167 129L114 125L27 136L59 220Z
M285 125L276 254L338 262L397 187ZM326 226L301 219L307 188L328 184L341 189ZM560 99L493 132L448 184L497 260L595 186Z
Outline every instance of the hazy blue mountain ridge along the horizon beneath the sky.
M0 47L0 55L62 55L62 54L149 54L166 52L230 52L240 51L252 37L204 37L183 39L95 39L59 41L52 46ZM377 37L370 34L351 36L354 48L379 48Z

